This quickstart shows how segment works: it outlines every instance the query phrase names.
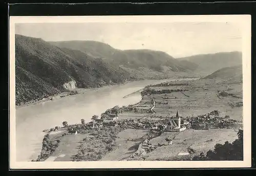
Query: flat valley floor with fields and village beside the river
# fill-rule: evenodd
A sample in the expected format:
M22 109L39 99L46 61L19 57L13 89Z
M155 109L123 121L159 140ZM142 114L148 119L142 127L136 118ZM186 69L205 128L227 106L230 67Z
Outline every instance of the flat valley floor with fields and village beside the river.
M229 94L223 96L222 92ZM73 147L79 148L76 152L68 154L64 152L65 145L61 145L63 152L58 155L69 156L69 161L192 160L200 153L214 150L216 144L238 140L237 133L243 129L239 80L166 81L147 85L140 94L142 99L138 103L115 106L102 113L99 120L60 129L66 129L67 136L63 138L83 137L77 142L73 140L76 143L72 143ZM150 111L153 100L154 113ZM230 103L241 105L230 106ZM170 132L166 126L175 119L176 112L183 130ZM116 118L106 120L115 113ZM77 137L69 133L71 128L78 132ZM165 144L167 138L172 139L172 145ZM59 151L58 146L55 151ZM41 157L38 161L44 161L44 156ZM58 157L54 161L68 160Z

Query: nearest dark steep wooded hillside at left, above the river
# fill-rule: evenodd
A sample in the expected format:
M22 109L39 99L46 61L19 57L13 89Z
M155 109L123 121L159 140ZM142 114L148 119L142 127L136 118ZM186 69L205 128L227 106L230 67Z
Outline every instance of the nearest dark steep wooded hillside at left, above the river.
M15 62L16 104L72 90L63 86L69 82L99 87L131 80L129 73L102 59L22 35L15 35Z

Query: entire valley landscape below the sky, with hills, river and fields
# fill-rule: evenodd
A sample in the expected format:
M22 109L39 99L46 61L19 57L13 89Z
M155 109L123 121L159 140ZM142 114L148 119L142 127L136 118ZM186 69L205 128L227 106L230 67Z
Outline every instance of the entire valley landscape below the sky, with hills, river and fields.
M22 35L15 44L19 153L36 146L24 160L193 160L240 140L240 52L174 58Z

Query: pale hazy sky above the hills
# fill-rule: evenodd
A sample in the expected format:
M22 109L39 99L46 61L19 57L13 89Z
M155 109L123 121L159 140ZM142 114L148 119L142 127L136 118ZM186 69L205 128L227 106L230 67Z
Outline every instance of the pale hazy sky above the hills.
M242 51L242 35L230 23L16 24L15 33L46 41L95 40L126 49L151 49L173 57Z

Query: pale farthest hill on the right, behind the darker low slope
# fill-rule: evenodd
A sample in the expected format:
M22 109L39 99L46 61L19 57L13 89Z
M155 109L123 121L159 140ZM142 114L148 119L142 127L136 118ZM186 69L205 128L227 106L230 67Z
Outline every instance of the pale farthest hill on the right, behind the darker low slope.
M195 63L198 65L198 67L194 69L194 73L206 76L219 69L242 64L242 53L223 52L215 54L194 55L178 59Z

